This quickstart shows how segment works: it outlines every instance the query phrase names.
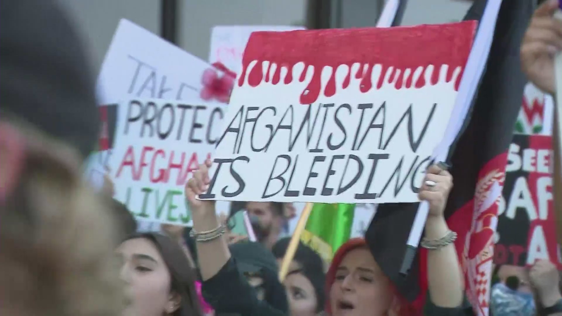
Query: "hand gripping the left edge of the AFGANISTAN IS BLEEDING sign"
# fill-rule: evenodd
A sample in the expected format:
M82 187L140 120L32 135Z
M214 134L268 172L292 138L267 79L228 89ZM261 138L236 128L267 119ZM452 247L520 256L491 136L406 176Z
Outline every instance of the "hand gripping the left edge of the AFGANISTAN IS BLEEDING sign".
M187 184L185 184L185 197L187 197L194 221L200 216L210 214L216 216L215 201L199 200L197 198L209 188L209 168L211 168L211 165L212 161L210 159L205 160L205 164L199 165L199 169L193 173L193 178L189 179Z

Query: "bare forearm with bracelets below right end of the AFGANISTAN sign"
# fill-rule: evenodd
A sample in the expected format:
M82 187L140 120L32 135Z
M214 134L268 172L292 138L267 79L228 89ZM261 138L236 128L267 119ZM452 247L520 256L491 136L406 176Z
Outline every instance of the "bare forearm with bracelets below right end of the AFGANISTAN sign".
M425 223L425 238L437 240L445 236L448 226L442 217L430 216ZM437 250L428 250L427 274L433 304L454 308L463 303L464 282L454 243Z

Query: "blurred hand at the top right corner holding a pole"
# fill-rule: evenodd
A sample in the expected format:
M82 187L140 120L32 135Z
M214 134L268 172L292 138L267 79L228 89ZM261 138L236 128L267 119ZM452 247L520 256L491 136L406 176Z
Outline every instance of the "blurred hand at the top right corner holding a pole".
M529 80L554 94L554 55L562 49L562 21L554 17L558 0L549 0L534 11L521 44L521 65Z

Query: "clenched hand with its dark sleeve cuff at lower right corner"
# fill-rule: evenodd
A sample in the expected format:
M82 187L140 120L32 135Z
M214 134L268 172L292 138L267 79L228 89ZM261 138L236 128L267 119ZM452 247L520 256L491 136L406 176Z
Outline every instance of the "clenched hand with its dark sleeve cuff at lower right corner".
M562 282L556 265L537 260L529 272L538 316L562 316Z

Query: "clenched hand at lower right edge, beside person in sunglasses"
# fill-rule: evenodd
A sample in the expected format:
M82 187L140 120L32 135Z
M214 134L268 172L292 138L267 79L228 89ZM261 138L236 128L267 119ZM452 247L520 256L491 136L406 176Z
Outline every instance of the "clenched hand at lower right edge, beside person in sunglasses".
M529 277L531 278L531 284L537 289L543 305L552 306L562 299L558 270L549 260L538 260L531 268Z

